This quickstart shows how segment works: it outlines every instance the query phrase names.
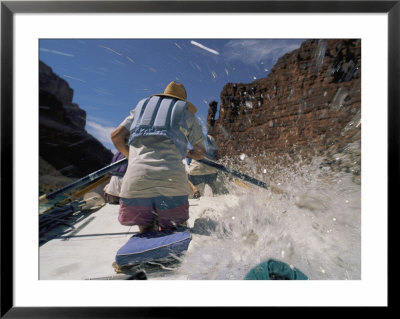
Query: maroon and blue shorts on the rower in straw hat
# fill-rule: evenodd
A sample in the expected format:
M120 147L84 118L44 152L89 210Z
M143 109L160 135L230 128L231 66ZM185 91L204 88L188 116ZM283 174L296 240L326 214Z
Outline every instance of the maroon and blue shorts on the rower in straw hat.
M121 198L118 221L125 226L157 223L171 228L189 219L188 196Z

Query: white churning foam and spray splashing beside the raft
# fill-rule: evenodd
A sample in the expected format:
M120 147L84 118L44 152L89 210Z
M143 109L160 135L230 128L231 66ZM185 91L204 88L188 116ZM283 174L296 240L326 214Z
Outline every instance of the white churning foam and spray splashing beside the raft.
M279 176L283 193L232 183L229 196L237 203L203 212L175 275L243 279L252 267L274 258L309 279L361 279L361 187L353 175L312 163ZM202 231L196 234L196 227Z

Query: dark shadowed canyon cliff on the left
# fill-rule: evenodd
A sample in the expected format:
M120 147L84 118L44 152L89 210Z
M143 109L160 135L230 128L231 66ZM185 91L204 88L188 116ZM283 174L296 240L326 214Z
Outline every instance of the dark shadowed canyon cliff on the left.
M57 171L55 175L80 178L109 164L113 154L86 132L86 112L72 99L68 83L40 62L39 156ZM39 174L48 179L52 173Z

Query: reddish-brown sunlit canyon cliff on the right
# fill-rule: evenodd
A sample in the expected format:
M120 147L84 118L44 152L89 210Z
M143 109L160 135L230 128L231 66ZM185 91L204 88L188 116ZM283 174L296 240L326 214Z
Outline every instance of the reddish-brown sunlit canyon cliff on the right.
M358 175L361 40L305 41L266 78L226 84L219 113L210 106L208 118L219 158L323 155L325 164Z

